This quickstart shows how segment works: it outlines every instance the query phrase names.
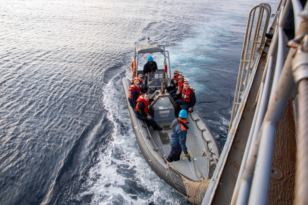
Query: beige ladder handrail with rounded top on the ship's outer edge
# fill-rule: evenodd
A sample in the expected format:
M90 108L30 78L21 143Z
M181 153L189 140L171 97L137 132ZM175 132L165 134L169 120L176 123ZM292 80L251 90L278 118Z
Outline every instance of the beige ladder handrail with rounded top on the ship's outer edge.
M258 10L258 15L256 16L255 14L257 10ZM264 21L262 21L264 18L264 10L266 12L265 19ZM254 6L249 12L246 31L245 31L245 39L244 39L243 49L241 53L240 66L239 66L239 71L237 75L237 84L236 84L236 90L235 90L235 95L234 95L234 100L233 100L229 131L230 131L232 122L235 118L235 114L241 103L243 92L245 91L247 82L251 75L251 72L252 72L252 69L253 69L253 66L256 60L255 59L256 51L260 55L261 51L263 50L264 43L265 43L264 37L265 37L266 28L267 28L267 25L270 19L270 12L271 12L270 5L265 4L265 3L260 3ZM254 24L254 20L256 20L255 24ZM263 26L262 26L262 23L263 23ZM253 29L253 26L255 26L254 29ZM260 35L260 32L261 32L261 35ZM252 34L253 34L253 37L251 39ZM244 75L245 75L245 78L244 78Z

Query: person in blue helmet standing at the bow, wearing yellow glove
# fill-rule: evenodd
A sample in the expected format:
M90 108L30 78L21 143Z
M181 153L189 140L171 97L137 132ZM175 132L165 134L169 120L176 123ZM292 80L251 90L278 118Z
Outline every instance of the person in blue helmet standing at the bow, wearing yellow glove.
M185 156L190 160L190 156L187 152L186 147L186 135L187 135L187 129L188 121L186 121L187 118L187 111L181 110L179 113L179 118L175 119L171 123L171 140L170 140L170 146L171 151L170 154L167 157L167 160L169 162L178 161L181 158L182 151L184 152Z

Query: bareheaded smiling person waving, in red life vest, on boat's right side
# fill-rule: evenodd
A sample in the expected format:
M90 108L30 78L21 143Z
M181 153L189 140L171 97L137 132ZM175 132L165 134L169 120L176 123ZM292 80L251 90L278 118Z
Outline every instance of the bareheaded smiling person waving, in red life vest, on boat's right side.
M180 100L175 101L177 110L180 110L180 105L184 105L184 110L191 111L196 104L196 95L192 86L188 82L183 83L183 89L176 91L176 97Z

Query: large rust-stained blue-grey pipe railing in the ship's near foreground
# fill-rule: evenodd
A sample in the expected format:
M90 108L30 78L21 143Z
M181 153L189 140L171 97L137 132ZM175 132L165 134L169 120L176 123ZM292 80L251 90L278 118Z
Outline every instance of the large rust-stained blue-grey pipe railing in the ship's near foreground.
M265 66L265 81L262 79L260 86L261 97L257 102L231 204L267 204L275 131L295 83L298 85L299 112L294 201L295 204L308 204L308 5L303 10L299 1L293 0L292 4L295 38L288 43L291 48L283 64L283 27L291 0L283 1ZM274 79L265 113L277 45Z

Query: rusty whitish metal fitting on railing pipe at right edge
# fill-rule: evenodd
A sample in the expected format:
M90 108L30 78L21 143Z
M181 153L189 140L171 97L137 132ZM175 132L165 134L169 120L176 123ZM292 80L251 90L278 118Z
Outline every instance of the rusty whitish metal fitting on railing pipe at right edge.
M298 44L297 51L292 60L292 72L294 82L308 78L308 34L306 34L301 44Z

